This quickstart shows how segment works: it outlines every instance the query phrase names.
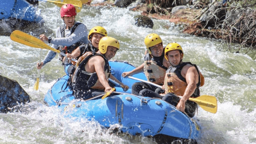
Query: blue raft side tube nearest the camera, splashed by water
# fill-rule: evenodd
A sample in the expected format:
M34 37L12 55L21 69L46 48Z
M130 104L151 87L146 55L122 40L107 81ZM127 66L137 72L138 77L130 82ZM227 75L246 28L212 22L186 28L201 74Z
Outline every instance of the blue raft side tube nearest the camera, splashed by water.
M77 102L65 110L67 117L93 117L104 127L118 124L132 135L168 135L197 139L199 131L190 118L160 99L122 94L104 100Z

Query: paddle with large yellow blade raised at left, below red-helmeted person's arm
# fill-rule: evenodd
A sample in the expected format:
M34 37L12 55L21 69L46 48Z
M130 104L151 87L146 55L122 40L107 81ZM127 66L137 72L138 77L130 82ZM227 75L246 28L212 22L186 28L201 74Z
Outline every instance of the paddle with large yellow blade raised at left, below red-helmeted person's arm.
M47 49L47 50L52 50L53 52L60 53L63 56L67 56L65 53L60 52L59 50L53 49L40 39L31 36L27 33L24 33L19 30L15 30L11 33L10 35L11 40L19 42L20 44L28 45L30 47L35 47L35 48L40 48L40 49ZM77 61L76 59L72 59L72 61Z

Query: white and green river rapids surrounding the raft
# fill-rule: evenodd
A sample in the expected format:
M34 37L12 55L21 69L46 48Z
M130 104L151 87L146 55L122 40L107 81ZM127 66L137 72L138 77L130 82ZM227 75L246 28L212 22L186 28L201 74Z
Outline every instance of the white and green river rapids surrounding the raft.
M51 31L47 36L55 36L55 29L63 23L60 8L41 2L39 10L45 21L41 29ZM168 20L153 19L153 29L137 27L133 17L138 14L111 6L84 6L76 20L84 23L88 31L97 25L104 27L108 36L121 44L114 59L126 60L135 66L143 63L146 35L159 34L163 45L178 42L184 50L184 61L195 63L205 77L201 94L214 95L218 100L216 114L199 108L194 117L201 126L198 143L256 144L256 61L251 58L255 51L226 52L226 45L219 50L220 41L182 34L180 28ZM38 36L36 31L31 30L30 34ZM39 90L34 91L40 49L0 36L0 53L0 75L17 80L31 97L22 112L0 114L0 143L155 144L150 138L110 134L96 122L72 121L64 118L58 108L44 105L47 90L64 75L57 56L42 68ZM47 50L43 50L43 58L46 54Z

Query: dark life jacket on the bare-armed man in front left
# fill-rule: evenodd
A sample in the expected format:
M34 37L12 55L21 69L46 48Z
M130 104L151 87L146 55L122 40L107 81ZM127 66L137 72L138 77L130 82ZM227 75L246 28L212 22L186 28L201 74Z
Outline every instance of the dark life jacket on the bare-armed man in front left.
M84 89L85 91L88 89L99 89L104 90L104 86L101 84L101 82L98 80L98 76L96 72L90 73L86 72L85 65L88 63L88 61L94 57L94 56L101 56L105 60L105 66L104 66L104 73L105 77L108 80L110 77L110 66L108 63L108 60L100 54L93 53L93 55L82 57L80 61L77 62L77 64L74 66L74 73L71 73L71 82L69 85L71 86L73 91L76 91L77 89L81 90Z

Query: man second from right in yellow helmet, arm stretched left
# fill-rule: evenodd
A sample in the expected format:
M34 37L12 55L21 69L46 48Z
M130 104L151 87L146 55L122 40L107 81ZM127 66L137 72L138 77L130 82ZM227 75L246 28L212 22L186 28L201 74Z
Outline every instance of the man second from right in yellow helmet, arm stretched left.
M144 63L130 72L124 72L123 77L132 76L143 72L148 81L157 85L163 85L165 78L165 71L167 67L171 66L169 61L164 58L163 42L159 35L151 33L144 39L147 51L144 56ZM158 91L156 86L137 82L132 85L132 94L139 95L141 90L149 89L151 91Z

